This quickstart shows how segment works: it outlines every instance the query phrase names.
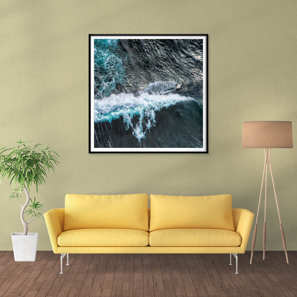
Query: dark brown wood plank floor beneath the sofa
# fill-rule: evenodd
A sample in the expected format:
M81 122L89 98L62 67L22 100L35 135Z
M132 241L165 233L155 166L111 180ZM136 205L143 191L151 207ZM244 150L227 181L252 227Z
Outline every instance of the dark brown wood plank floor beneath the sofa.
M238 271L221 254L86 254L64 258L37 252L35 262L15 262L0 251L0 296L297 296L297 252L239 255Z

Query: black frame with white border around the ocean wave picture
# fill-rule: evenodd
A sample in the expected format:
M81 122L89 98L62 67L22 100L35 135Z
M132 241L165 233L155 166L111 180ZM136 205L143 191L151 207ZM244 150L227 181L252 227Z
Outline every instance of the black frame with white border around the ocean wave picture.
M140 37L145 37L143 39L147 39L149 37L158 37L156 39L160 39L161 37L174 39L173 37L182 37L176 39L189 39L189 37L196 37L192 39L203 39L203 148L192 148L191 150L187 150L184 148L178 148L178 150L172 150L170 148L166 148L165 150L151 151L144 150L143 148L135 149L135 148L118 148L118 150L113 150L110 148L99 149L94 147L94 127L92 129L92 125L94 126L94 113L92 113L92 108L94 112L94 64L92 63L92 55L94 57L94 41L92 43L92 39L94 37L104 37L104 39L108 39L108 37L126 37L124 39L142 39ZM131 38L132 37L132 38ZM123 38L122 38L123 39ZM93 51L92 51L93 45ZM92 84L93 82L93 84ZM93 141L92 141L93 138ZM174 148L176 149L176 148ZM198 150L199 149L199 150ZM89 154L96 153L190 153L190 154L208 154L208 34L89 34Z

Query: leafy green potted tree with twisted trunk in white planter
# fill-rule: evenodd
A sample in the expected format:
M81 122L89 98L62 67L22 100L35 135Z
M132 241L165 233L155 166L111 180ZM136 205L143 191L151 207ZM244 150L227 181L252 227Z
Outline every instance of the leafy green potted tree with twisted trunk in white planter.
M41 216L42 204L35 197L32 200L29 191L33 185L38 192L38 186L45 184L47 171L54 171L59 163L58 154L50 146L40 143L30 146L30 142L18 140L18 145L12 148L0 146L0 181L7 179L12 184L8 198L15 200L21 207L20 219L24 227L23 233L11 235L15 261L35 261L38 233L28 233L28 225L35 217ZM24 204L20 203L22 192L26 194ZM31 217L29 221L25 220L26 215Z

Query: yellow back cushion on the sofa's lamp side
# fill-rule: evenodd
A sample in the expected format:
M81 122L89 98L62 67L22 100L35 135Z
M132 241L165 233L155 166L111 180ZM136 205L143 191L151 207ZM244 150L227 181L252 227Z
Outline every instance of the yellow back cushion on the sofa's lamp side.
M151 195L150 231L212 228L234 231L232 196Z

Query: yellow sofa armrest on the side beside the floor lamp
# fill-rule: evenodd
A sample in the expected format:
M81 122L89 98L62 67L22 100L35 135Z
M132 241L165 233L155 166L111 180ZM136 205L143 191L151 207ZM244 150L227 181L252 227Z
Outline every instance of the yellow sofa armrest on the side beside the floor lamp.
M244 208L233 208L234 231L241 237L241 254L244 254L249 241L255 214Z

